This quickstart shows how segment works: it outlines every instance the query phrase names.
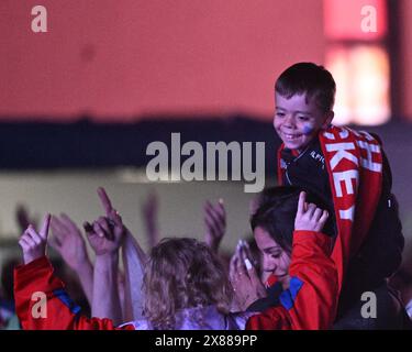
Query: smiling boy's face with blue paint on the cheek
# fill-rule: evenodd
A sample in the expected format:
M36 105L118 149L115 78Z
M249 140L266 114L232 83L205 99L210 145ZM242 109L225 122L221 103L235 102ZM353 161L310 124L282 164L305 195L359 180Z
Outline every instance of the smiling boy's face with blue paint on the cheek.
M305 94L287 99L275 92L275 130L287 148L300 152L333 119L333 111L324 113L313 98L308 99L308 103L305 100Z

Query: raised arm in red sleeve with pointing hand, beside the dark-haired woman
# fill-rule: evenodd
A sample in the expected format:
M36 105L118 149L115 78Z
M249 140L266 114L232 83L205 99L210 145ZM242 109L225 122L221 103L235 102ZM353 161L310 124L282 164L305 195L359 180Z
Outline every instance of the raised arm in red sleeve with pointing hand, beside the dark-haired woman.
M289 267L291 284L288 296L281 300L293 329L330 329L336 315L338 300L337 271L330 257L333 241L321 233L329 213L299 197L294 221L292 260ZM309 302L309 304L308 304Z

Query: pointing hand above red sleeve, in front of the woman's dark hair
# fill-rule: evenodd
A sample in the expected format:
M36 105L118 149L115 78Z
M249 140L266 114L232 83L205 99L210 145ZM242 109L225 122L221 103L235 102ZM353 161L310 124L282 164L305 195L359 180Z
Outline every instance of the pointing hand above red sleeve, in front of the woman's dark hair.
M321 232L326 223L329 213L313 204L307 204L307 194L299 195L298 212L294 219L294 230Z

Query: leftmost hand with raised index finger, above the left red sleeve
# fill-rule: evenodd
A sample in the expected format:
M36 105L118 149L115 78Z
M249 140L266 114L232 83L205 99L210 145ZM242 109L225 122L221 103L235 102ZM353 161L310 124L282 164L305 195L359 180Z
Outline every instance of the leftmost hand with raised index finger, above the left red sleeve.
M37 232L32 224L23 232L19 244L23 250L24 264L29 264L46 254L46 244L51 215L44 217L42 229Z

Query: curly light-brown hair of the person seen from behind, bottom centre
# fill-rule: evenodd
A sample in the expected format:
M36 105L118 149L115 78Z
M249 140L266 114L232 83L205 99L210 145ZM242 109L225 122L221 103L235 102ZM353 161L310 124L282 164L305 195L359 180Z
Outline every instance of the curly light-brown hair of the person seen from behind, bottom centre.
M144 315L155 329L175 329L183 308L215 305L229 312L232 286L220 258L194 239L164 239L153 248L143 279Z

